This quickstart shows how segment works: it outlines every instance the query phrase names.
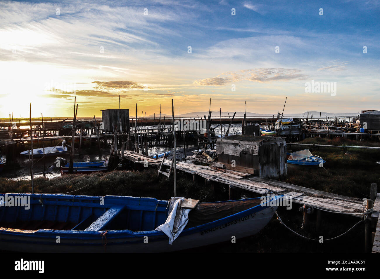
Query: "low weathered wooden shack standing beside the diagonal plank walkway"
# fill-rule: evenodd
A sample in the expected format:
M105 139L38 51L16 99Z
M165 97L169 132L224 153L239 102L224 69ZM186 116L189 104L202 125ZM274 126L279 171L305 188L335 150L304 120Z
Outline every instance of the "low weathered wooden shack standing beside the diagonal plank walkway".
M282 137L234 135L218 138L218 164L264 178L287 175L286 142Z

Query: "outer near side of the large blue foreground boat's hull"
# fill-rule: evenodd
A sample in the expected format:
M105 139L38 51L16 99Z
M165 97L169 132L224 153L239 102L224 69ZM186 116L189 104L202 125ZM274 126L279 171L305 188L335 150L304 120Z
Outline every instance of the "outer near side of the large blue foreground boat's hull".
M275 208L276 209L276 208ZM15 252L41 252L41 253L154 253L154 252L173 252L184 249L190 249L210 244L216 244L224 241L231 241L232 237L236 239L255 235L271 220L273 216L271 208L266 208L260 213L252 213L235 219L216 227L201 230L200 232L190 235L180 235L173 244L168 244L168 237L161 235L159 237L149 237L147 232L147 241L144 242L144 236L126 237L120 234L116 239L111 239L111 232L107 232L107 243L100 236L103 232L82 234L84 239L73 239L67 231L55 230L52 233L49 230L38 230L30 235L7 236L2 232L2 241L0 249ZM56 243L57 236L60 236L60 243ZM36 240L38 238L38 240ZM89 238L89 239L87 239Z

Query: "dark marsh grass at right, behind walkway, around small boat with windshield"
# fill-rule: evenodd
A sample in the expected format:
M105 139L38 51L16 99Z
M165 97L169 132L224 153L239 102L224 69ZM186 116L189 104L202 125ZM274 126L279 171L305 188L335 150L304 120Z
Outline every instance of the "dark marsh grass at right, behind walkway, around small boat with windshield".
M378 142L358 142L337 137L326 139L320 137L308 138L299 143L324 145L361 145L380 147ZM308 147L291 146L291 151ZM289 147L288 147L289 149ZM321 156L326 163L322 167L291 167L288 164L288 176L284 182L332 192L351 197L368 197L372 182L380 185L379 150L315 147L309 148L313 155Z

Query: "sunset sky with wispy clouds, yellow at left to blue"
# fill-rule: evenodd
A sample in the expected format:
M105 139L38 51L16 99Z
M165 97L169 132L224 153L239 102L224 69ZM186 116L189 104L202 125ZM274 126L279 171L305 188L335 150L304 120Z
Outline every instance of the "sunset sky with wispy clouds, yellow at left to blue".
M285 97L284 113L380 110L379 14L377 0L1 1L0 117L30 102L32 117L72 117L74 97L78 117L100 116L119 95L131 117L136 103L171 114L172 98L181 114L210 98L222 112L276 113Z

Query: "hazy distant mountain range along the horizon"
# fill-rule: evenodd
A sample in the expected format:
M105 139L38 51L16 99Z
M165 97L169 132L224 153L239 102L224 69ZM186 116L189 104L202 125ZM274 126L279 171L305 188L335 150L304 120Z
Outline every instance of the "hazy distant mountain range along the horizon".
M232 117L234 115L234 112L228 112L230 113L230 117ZM228 113L227 112L222 112L222 117L228 117ZM319 114L320 112L317 112L317 111L309 111L309 112L303 112L303 113L284 113L284 117L301 117L301 115L304 115L304 117L307 117L307 114L309 114L309 117L310 117L310 113L311 115L313 116L313 118L317 118L319 117ZM209 115L209 112L206 111L206 112L189 112L189 113L183 113L183 114L180 114L180 117L203 117L204 115L206 115L206 117ZM260 114L260 113L254 113L254 112L247 112L245 117L272 117L272 116L275 116L277 117L277 113L272 113L272 114ZM347 117L352 117L352 116L356 116L358 115L358 113L330 113L330 112L321 112L321 117L342 117L342 116L347 116ZM165 114L165 113L161 113L161 117L164 117L167 118L167 117L171 117L171 115L168 115L168 114ZM218 117L220 116L220 112L218 111L213 111L211 112L211 117ZM154 117L153 114L149 115L148 117ZM156 114L155 115L156 118L159 117L159 114ZM178 117L178 114L174 114L174 117ZM244 112L236 112L236 115L235 117L244 117Z

